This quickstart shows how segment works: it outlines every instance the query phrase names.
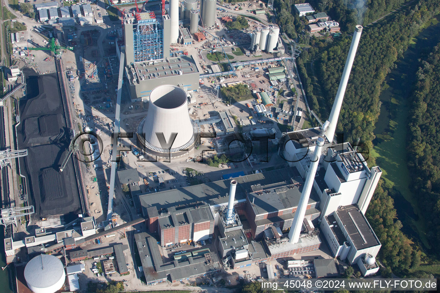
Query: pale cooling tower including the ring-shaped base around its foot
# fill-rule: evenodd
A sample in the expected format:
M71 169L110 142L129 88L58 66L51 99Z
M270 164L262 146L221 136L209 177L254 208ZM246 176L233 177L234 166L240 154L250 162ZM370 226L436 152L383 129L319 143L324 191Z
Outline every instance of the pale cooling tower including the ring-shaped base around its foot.
M147 117L137 130L145 151L162 158L183 156L194 148L197 134L197 125L188 114L185 91L173 85L155 87L150 93Z

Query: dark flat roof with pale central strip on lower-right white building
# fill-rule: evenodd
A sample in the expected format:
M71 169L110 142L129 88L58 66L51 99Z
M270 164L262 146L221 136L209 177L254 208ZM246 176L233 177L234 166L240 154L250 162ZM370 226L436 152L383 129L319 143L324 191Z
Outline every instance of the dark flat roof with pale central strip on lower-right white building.
M345 206L336 213L357 250L380 244L367 219L356 206Z

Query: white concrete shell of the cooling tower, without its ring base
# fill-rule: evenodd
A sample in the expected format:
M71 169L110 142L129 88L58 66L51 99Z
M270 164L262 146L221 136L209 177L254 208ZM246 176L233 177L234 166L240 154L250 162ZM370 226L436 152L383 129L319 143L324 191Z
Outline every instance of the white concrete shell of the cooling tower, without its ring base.
M194 131L188 114L187 94L182 88L166 84L151 91L143 133L145 140L156 148L180 148L191 141ZM167 145L172 133L177 134L176 139L172 145ZM165 142L159 141L157 134Z

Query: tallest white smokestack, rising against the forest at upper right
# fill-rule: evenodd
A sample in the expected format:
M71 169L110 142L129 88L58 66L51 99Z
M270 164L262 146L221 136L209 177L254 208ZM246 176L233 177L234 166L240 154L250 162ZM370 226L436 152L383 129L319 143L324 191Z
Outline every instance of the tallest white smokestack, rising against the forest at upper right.
M330 143L333 141L334 132L336 131L337 119L339 118L339 112L341 112L342 100L344 99L348 77L350 77L350 71L352 70L352 65L355 59L357 46L359 45L359 39L362 33L362 29L362 25L356 25L355 33L353 34L352 44L350 46L350 50L348 51L347 61L345 61L344 72L342 72L341 82L339 83L339 88L337 89L333 108L330 112L330 125L326 135Z

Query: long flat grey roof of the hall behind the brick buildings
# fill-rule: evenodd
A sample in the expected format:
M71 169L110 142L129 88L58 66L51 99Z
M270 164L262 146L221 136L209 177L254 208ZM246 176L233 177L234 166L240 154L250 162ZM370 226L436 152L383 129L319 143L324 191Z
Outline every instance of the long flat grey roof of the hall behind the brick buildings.
M235 192L235 199L246 199L246 191L250 190L252 185L273 184L274 182L283 182L283 184L286 184L286 181L290 181L290 178L297 177L298 175L299 173L295 167L289 167L280 170L235 177L233 179L238 183ZM179 204L184 205L195 203L197 201L204 201L210 205L227 203L229 195L226 194L229 194L230 182L231 179L225 179L162 192L143 194L139 195L139 200L145 211L144 214L147 214L146 210L151 206L155 206L158 209L166 209Z

